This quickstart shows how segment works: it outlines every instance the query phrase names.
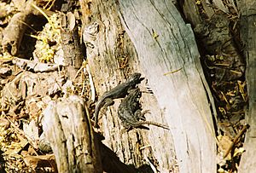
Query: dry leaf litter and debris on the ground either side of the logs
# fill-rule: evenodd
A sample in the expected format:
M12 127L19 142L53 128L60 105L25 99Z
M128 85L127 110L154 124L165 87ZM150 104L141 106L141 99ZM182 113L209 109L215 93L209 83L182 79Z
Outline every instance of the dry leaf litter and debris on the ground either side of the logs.
M49 101L63 95L82 95L86 99L89 73L84 61L73 84L67 83L66 74L58 71L62 62L56 62L61 56L61 26L53 21L58 21L58 16L53 14L45 18L44 12L39 11L38 16L30 16L31 26L26 26L23 24L29 19L18 12L24 7L24 2L0 3L0 170L54 172L53 154L45 153L40 147L40 115ZM21 27L18 33L14 30L17 23L12 24L16 14L20 14L15 19ZM234 75L227 74L224 68L232 66L232 61L222 55L202 54L202 66L218 112L215 122L218 172L236 172L244 152L242 146L247 130L244 125L247 107L245 74L233 78ZM236 74L236 71L232 73Z

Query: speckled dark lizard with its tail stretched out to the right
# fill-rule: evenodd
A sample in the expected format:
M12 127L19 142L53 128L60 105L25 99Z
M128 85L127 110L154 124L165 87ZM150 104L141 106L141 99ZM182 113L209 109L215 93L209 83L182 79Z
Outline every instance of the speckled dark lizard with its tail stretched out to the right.
M167 125L146 121L145 118L143 118L144 113L141 112L141 107L138 102L140 95L140 89L132 89L129 95L127 95L119 105L118 115L125 129L130 130L131 128L136 128L143 124L151 124L169 130Z

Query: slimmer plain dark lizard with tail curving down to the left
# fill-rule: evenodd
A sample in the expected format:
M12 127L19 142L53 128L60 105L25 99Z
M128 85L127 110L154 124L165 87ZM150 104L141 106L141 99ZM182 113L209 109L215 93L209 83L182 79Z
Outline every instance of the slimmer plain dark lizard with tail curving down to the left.
M125 83L119 84L113 89L105 92L99 101L97 101L95 109L95 124L97 126L98 114L100 109L105 105L108 107L113 104L113 99L124 98L128 94L128 91L134 89L144 78L141 78L141 73L135 72L129 77Z

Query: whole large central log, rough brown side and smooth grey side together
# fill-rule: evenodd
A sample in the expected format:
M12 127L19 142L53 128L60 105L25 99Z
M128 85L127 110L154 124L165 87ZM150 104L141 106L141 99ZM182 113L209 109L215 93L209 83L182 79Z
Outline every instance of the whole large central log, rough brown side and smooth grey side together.
M146 80L139 87L145 90L148 85L154 92L143 93L141 99L143 109L151 112L147 120L167 123L172 129L149 126L149 130L124 132L117 115L119 101L115 101L100 112L103 143L125 164L151 171L216 171L212 113L200 55L191 27L174 5L165 1L80 3L90 16L84 16L84 24L99 24L93 46L86 49L97 95L124 81L127 74L142 72Z

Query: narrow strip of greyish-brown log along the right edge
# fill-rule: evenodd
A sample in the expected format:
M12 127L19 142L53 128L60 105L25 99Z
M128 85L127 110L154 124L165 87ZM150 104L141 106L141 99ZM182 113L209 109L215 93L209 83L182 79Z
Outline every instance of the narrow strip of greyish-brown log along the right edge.
M241 156L239 172L254 172L256 159L256 29L253 24L256 22L256 3L253 0L242 0L239 2L241 9L241 36L245 43L245 54L247 57L247 93L249 107L246 114L246 122L250 125L247 131L244 147L246 152Z

